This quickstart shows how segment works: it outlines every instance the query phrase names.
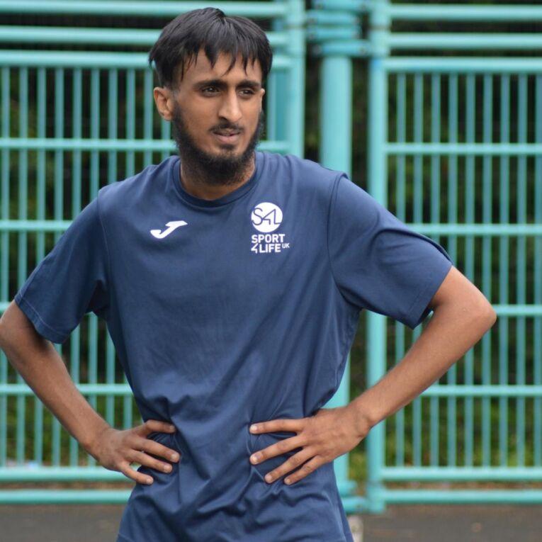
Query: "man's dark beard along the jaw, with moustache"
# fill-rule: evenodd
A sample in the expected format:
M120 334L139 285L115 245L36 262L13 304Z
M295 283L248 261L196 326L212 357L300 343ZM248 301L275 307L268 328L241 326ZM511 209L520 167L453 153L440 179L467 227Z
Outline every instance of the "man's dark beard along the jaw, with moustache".
M233 145L228 147L225 152L220 154L210 154L198 147L193 140L183 118L182 109L176 104L171 118L171 132L179 150L181 164L186 172L196 182L201 182L210 186L228 186L239 184L244 174L249 171L254 157L254 149L264 132L265 115L262 109L258 125L249 140L247 148L241 154L234 154ZM236 126L222 123L215 127L215 130L237 129Z

